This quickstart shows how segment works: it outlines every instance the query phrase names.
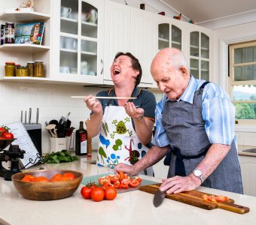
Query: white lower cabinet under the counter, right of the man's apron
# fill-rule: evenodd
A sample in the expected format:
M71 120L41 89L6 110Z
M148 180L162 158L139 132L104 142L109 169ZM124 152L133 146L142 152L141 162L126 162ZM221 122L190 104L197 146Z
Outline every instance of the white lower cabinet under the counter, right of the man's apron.
M239 163L244 193L256 196L256 156L239 155Z

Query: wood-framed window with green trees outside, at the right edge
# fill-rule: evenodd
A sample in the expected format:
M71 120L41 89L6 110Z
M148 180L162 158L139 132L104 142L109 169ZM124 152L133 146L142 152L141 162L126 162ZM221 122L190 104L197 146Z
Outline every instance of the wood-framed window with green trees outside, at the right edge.
M256 41L230 45L230 96L236 120L256 124Z

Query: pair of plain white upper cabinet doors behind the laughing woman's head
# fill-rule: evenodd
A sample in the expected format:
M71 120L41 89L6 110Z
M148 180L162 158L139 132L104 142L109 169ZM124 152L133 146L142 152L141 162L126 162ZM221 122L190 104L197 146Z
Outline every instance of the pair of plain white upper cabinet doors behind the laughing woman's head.
M142 65L139 86L152 87L150 66L154 57L153 14L113 1L105 4L104 83L111 82L110 68L117 52L131 52Z

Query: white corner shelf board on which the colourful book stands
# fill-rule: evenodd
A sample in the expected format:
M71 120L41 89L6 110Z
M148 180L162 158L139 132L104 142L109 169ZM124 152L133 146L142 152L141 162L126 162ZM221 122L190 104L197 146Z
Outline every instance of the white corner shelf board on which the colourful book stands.
M49 46L37 45L31 43L5 43L0 46L2 51L11 51L11 52L26 52L26 53L35 53L49 50Z

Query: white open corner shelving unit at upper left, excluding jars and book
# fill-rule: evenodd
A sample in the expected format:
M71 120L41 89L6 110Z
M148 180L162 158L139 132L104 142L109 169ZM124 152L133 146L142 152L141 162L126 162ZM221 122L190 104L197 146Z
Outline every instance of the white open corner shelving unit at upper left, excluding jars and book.
M0 22L18 23L35 23L44 22L44 35L41 45L29 43L11 43L0 46L0 80L2 81L22 81L23 77L5 77L5 62L15 62L17 65L26 66L27 62L41 60L44 62L45 78L26 77L29 82L38 82L39 80L47 80L50 77L50 55L51 55L51 0L35 0L35 11L15 11L20 7L20 1L8 1L8 5L4 0L0 0L2 10L0 12ZM5 8L6 7L8 8ZM13 9L13 10L12 10ZM15 28L14 28L15 29Z

